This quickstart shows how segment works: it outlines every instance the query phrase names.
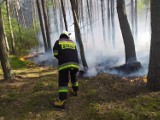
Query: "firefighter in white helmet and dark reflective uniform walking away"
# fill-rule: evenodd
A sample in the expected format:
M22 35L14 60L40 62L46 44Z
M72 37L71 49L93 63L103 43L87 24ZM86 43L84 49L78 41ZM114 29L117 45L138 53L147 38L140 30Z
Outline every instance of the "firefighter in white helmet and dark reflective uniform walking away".
M59 99L54 101L53 105L64 108L64 103L67 99L69 78L71 78L72 83L71 94L77 96L78 91L78 81L76 79L76 74L79 70L78 53L76 44L70 40L70 33L65 31L60 35L59 40L54 44L53 54L58 59L59 65Z

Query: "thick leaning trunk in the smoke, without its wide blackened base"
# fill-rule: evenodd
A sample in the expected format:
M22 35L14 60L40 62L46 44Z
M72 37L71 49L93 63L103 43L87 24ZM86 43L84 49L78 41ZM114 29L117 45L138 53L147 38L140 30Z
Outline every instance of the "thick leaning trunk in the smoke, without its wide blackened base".
M125 46L126 63L137 62L134 40L128 23L124 0L117 0L117 12Z

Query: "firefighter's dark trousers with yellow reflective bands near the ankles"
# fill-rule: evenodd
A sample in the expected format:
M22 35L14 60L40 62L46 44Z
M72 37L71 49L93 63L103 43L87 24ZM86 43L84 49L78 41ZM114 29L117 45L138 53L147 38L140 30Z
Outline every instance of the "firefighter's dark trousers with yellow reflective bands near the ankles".
M68 68L59 71L59 99L67 99L68 93L68 82L71 79L73 91L78 91L78 81L76 79L76 74L78 72L77 68Z

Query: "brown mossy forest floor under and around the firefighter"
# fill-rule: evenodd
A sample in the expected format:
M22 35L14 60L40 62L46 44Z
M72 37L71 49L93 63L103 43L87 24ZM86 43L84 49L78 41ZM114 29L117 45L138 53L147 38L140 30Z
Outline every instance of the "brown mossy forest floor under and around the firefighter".
M160 92L146 89L146 77L78 78L78 96L69 93L65 109L57 109L52 106L58 98L57 70L20 66L8 82L0 70L0 120L160 120Z

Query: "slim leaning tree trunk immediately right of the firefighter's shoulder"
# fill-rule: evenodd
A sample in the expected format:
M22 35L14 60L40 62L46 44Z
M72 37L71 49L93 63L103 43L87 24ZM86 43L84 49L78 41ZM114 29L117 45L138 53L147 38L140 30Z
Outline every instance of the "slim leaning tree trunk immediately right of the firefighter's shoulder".
M80 28L79 28L79 24L78 24L78 19L77 19L75 8L74 8L75 7L74 6L74 0L70 0L70 2L71 2L74 25L75 25L75 34L77 36L76 40L78 41L78 44L79 44L80 55L81 55L81 60L82 60L84 70L87 70L88 65L87 65L86 58L85 58L84 47L83 47L83 43L82 43L82 38L81 38Z

